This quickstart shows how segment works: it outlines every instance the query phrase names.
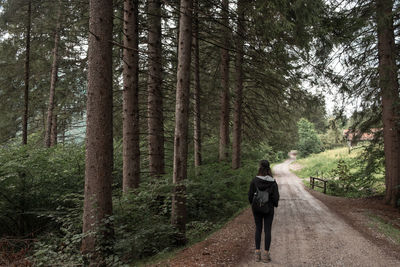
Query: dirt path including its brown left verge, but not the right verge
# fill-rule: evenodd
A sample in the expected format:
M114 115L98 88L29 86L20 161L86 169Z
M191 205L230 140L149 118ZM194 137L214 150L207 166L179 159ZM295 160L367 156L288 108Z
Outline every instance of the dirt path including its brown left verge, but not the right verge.
M254 261L254 222L247 209L203 242L157 266L400 266L393 253L385 253L313 197L289 171L292 161L274 168L281 200L272 226L271 263Z

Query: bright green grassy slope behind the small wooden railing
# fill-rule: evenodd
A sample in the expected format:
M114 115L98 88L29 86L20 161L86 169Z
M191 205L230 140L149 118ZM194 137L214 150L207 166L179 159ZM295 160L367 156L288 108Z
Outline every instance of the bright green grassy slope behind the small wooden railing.
M384 191L384 168L380 161L374 168L365 158L365 147L351 151L347 147L327 150L296 160L302 168L294 171L310 186L310 177L328 180L327 194L345 197L364 197L382 194ZM317 182L322 186L321 182ZM322 192L323 189L315 187Z

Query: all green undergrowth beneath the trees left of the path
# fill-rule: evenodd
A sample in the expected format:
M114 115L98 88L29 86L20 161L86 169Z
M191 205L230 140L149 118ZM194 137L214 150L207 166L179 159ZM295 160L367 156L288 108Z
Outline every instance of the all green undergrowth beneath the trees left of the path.
M286 154L268 146L244 145L243 149L238 170L232 170L230 162L218 162L217 145L212 142L204 143L201 167L194 168L193 159L188 159L188 245L203 240L247 207L248 186L260 159L272 163ZM182 247L177 246L177 231L170 223L173 184L168 160L172 155L166 155L166 175L143 175L138 189L122 195L120 142L115 142L114 153L113 215L107 219L114 226L114 246L107 265L137 265L174 255ZM21 240L8 254L23 250L34 266L83 264L84 158L84 145L79 144L50 149L32 143L0 147L0 232ZM142 172L147 172L144 158Z

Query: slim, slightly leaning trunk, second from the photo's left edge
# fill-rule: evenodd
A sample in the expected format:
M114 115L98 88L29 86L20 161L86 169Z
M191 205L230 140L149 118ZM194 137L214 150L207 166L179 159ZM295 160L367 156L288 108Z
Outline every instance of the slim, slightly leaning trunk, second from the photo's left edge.
M49 93L49 106L47 109L47 124L46 124L46 133L44 138L44 143L46 147L51 146L51 129L53 123L53 111L54 111L54 98L56 92L56 82L58 76L58 44L60 42L60 28L61 28L61 2L58 2L58 11L57 11L57 25L56 32L54 34L54 48L53 48L53 64L51 65L51 78L50 78L50 93Z

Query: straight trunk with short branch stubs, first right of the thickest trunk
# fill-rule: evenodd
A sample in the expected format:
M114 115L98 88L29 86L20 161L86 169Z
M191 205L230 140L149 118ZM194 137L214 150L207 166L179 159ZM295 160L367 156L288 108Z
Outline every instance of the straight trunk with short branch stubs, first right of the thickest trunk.
M123 182L122 190L140 182L138 0L124 2Z

